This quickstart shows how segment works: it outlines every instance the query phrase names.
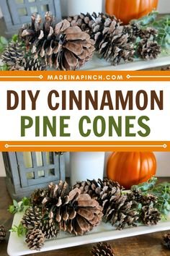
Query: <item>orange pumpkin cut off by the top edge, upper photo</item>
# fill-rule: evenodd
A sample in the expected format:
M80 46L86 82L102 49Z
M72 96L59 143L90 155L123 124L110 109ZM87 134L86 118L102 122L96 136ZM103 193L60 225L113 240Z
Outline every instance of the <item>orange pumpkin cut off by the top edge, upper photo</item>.
M106 12L115 15L124 24L152 12L158 0L106 0Z

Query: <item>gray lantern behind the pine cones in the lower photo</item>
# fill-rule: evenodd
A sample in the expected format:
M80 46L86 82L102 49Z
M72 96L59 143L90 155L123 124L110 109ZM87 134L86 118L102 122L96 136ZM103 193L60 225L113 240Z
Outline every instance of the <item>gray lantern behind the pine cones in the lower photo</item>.
M4 152L2 155L6 187L13 199L20 200L36 188L65 180L65 162L61 152Z

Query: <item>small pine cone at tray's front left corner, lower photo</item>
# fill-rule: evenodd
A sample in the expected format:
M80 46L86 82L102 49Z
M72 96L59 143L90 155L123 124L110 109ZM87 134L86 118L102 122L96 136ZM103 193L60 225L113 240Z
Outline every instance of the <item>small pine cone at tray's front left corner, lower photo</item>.
M25 242L29 249L36 249L37 251L40 251L45 242L45 235L40 229L31 229L26 235Z

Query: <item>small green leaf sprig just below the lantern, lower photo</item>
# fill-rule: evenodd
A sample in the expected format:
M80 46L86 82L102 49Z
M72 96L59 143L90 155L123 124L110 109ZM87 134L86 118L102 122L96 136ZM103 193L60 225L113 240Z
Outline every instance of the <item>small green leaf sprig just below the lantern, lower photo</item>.
M27 197L22 198L21 202L13 200L13 205L9 205L9 213L15 214L27 210L30 200Z

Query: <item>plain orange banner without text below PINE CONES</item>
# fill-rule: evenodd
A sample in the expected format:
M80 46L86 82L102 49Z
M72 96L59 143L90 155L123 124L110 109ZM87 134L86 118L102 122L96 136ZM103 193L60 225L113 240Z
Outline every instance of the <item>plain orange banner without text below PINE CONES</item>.
M170 141L135 141L135 142L114 142L114 141L12 141L0 142L0 151L72 151L72 152L93 152L93 151L170 151Z

